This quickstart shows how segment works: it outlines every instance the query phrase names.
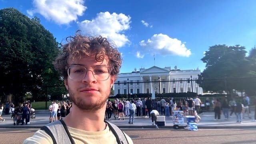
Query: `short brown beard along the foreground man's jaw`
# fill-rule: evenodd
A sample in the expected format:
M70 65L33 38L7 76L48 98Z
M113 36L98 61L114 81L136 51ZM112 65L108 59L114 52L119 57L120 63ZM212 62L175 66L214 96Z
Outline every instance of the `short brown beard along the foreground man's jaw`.
M102 98L98 99L96 102L86 102L82 97L76 97L72 90L68 90L68 93L70 95L71 102L73 102L78 108L84 111L94 112L105 106L108 96L110 95L110 90L102 94Z

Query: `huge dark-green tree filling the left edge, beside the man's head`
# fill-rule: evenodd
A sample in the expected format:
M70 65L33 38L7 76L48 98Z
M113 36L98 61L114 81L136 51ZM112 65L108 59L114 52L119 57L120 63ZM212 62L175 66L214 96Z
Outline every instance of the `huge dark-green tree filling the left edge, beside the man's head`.
M16 102L28 90L44 84L61 84L52 65L60 52L59 43L41 24L14 8L0 10L0 86ZM29 90L34 91L34 90Z

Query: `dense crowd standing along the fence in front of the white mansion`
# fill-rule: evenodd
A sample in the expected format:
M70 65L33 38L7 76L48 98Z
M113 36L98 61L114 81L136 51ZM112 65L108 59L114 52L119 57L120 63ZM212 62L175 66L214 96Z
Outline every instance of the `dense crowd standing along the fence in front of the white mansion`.
M157 110L162 116L170 117L174 110L181 110L186 115L195 115L202 113L201 110L201 100L196 96L193 98L184 98L180 100L175 100L174 98L161 98L161 99L151 99L151 98L140 98L133 100L119 100L116 98L113 101L108 100L106 104L105 117L107 120L112 120L112 115L114 114L114 119L124 120L125 116L132 117L132 121L129 120L129 124L134 123L134 116L142 116L143 118L150 118L150 112L152 110Z

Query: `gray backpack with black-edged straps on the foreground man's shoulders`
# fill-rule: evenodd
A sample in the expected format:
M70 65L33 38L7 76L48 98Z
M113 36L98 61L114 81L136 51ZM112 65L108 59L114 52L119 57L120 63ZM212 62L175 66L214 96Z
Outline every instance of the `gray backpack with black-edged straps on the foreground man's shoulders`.
M124 132L120 128L105 120L104 122L108 124L108 127L116 137L116 141L118 144L128 144L128 140L124 135ZM51 122L50 124L43 126L40 130L44 130L52 138L53 144L75 143L68 131L68 127L63 120Z

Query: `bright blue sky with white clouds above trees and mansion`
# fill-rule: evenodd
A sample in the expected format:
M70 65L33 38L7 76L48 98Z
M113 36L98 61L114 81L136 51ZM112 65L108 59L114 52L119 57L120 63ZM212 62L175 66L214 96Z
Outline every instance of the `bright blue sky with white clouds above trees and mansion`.
M37 16L58 42L76 30L108 37L134 68L199 68L209 46L256 45L256 0L0 0ZM154 61L155 57L155 61Z

